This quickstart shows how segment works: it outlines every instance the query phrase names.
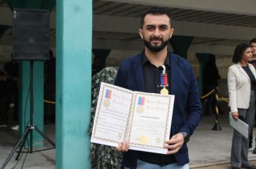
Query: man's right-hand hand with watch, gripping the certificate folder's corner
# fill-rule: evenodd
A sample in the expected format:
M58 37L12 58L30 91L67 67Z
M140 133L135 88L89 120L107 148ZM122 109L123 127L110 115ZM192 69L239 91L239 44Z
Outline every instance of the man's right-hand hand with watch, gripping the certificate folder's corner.
M175 154L184 144L184 136L181 133L173 135L170 140L165 141L165 148L168 148L168 155Z

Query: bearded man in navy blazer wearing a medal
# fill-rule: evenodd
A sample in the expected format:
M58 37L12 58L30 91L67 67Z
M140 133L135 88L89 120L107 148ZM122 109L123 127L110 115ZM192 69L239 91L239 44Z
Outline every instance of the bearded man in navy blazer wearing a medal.
M125 168L188 167L186 142L201 120L201 101L193 69L186 59L168 52L167 44L174 29L170 13L152 7L142 15L140 37L145 50L122 62L115 85L140 92L175 95L170 140L166 140L166 155L129 150L128 141L119 143L116 150L124 152ZM187 114L187 115L186 115ZM149 124L150 125L150 124Z

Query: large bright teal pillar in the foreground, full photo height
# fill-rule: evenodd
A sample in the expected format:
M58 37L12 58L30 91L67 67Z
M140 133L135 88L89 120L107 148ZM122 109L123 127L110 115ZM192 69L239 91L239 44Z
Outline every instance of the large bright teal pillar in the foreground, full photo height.
M91 168L92 1L56 7L56 168Z

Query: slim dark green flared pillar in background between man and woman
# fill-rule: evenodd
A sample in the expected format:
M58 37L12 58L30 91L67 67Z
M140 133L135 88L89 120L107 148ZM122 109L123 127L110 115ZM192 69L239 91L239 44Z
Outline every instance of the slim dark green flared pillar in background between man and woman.
M211 54L205 54L205 53L196 53L196 58L198 59L199 62L199 93L202 96L203 93L203 72L204 72L204 68L205 68L205 64L209 59L209 56Z

